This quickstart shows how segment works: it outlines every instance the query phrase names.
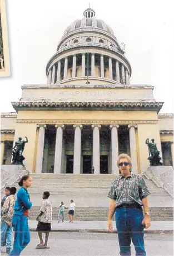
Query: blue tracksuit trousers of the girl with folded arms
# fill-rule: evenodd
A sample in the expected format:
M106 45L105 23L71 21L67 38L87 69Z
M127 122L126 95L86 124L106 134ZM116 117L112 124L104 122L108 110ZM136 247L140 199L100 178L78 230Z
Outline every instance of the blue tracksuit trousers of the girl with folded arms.
M13 250L8 255L20 255L30 242L28 217L24 215L13 215L12 226L14 228Z

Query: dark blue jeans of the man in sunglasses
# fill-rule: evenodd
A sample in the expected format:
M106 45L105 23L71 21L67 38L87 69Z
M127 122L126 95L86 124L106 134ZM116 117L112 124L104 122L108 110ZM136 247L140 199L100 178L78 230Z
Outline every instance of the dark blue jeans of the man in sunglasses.
M141 208L116 208L116 227L120 255L131 255L131 240L135 246L136 256L146 255Z

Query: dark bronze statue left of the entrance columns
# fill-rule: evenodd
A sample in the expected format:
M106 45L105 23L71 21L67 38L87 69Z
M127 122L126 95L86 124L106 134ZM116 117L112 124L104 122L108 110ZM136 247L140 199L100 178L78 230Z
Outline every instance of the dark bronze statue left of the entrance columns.
M11 164L18 164L18 165L23 165L23 160L25 159L22 155L24 146L26 143L28 143L27 137L26 141L22 140L21 137L18 138L18 141L16 141L14 147L12 148L12 163Z

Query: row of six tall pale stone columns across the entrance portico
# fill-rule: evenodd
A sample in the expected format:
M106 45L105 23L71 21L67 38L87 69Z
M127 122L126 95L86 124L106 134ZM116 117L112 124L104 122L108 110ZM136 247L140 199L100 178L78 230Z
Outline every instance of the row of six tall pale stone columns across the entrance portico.
M38 125L38 145L36 155L36 173L42 173L43 148L44 148L44 134L46 125ZM62 142L64 125L55 125L56 127L56 146L54 157L54 174L61 173L62 165ZM118 125L110 125L111 129L111 159L112 159L112 173L118 174L116 161L118 159ZM132 169L134 173L138 172L137 167L137 150L136 150L136 125L129 125L130 132L130 150L132 159ZM73 173L80 174L81 169L81 131L83 125L73 125L74 128L74 160ZM92 125L93 129L93 155L92 162L95 167L95 174L100 174L100 128L101 125Z

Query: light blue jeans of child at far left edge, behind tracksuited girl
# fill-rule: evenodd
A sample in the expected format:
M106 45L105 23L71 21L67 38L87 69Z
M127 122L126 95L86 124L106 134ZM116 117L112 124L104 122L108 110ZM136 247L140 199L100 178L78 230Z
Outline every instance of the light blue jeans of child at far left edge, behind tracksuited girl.
M13 228L9 226L5 221L1 222L1 247L6 240L6 250L11 250L13 239Z

